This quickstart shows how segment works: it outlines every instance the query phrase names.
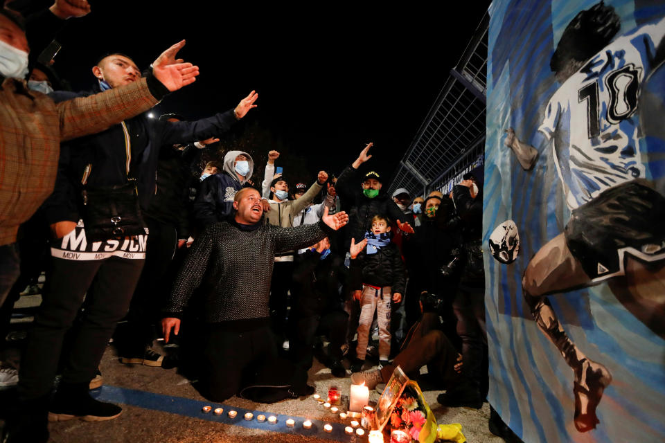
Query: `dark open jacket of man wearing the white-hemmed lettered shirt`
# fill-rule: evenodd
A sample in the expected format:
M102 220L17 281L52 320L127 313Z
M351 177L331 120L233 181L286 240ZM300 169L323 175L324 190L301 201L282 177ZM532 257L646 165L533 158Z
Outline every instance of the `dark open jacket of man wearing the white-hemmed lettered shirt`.
M97 92L98 88L83 93L55 91L50 97L55 102L61 102ZM55 189L44 203L48 222L78 221L83 185L95 187L126 183L127 161L130 175L136 179L141 209L148 208L156 191L155 174L159 150L163 145L204 140L228 131L235 122L233 109L195 122L159 121L142 114L104 132L63 143Z

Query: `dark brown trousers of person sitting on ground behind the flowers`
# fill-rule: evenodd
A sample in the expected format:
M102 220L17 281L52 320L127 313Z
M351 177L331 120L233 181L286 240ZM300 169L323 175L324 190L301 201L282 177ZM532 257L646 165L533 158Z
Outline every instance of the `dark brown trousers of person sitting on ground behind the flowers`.
M454 369L457 351L443 331L434 329L436 324L438 324L438 314L432 312L423 314L420 323L407 337L406 346L390 365L381 368L384 383L390 379L398 366L405 374L417 374L420 367L427 365L427 373L436 377L445 387L452 386L459 379Z

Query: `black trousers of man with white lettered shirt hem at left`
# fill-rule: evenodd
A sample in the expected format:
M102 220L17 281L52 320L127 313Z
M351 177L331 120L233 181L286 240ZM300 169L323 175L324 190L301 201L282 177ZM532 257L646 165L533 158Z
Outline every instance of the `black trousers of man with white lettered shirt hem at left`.
M21 359L19 395L24 400L51 392L64 335L84 298L85 311L71 336L68 355L63 356L62 381L87 383L94 378L116 323L127 314L143 269L143 260L115 256L90 261L51 260L42 305Z

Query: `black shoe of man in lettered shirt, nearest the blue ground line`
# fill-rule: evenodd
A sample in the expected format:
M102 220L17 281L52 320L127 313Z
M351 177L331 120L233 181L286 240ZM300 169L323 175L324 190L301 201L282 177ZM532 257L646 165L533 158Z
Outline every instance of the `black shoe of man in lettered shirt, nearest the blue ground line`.
M53 396L53 403L48 408L48 421L64 422L78 418L85 422L102 422L112 420L122 412L123 408L116 404L90 397L88 383L60 383Z

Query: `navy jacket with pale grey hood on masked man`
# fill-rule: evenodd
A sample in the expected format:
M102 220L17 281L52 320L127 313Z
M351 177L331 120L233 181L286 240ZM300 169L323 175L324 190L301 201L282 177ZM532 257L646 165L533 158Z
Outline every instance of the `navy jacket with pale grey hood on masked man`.
M249 161L249 172L238 180L233 163L240 154ZM254 160L247 152L229 151L224 156L224 167L219 174L211 175L201 183L201 189L194 201L194 218L199 226L223 221L233 212L233 199L236 192L248 188L247 180L254 172Z

